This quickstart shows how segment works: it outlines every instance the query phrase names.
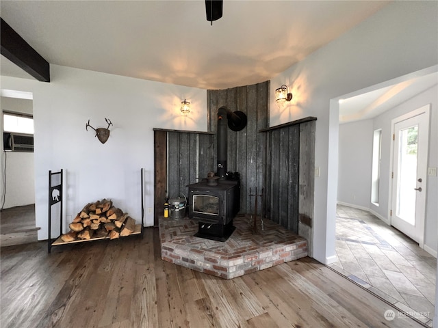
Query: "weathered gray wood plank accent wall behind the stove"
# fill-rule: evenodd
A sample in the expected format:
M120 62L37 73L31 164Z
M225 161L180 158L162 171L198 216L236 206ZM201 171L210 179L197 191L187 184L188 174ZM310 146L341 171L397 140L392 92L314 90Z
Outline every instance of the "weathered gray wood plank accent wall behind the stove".
M209 132L154 128L155 218L163 215L169 197L188 195L187 185L216 172L217 113L222 106L243 111L248 124L228 129L227 171L241 178L240 213L263 215L307 238L311 255L315 166L315 121L304 118L269 127L270 81L227 90L207 91Z

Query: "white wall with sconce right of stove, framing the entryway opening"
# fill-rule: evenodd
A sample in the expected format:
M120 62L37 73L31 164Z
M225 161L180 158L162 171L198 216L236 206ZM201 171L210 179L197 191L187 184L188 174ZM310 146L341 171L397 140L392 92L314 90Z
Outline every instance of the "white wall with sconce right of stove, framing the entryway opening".
M271 97L270 126L315 116L313 256L335 260L339 105L342 95L438 64L437 1L394 1L271 80L294 94L279 110ZM435 230L436 233L436 230Z

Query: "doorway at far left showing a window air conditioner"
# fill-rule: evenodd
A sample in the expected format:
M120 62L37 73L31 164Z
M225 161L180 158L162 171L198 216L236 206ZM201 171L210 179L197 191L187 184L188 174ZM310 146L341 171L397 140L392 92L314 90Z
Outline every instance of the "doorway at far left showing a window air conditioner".
M33 94L0 90L0 246L37 241Z

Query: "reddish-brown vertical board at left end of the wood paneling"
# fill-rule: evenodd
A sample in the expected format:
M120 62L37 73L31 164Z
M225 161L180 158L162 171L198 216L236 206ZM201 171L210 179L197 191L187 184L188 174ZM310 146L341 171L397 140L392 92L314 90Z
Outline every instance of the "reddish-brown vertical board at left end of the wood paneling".
M158 217L163 213L163 203L167 185L167 133L154 131L154 217L153 225L158 226Z

